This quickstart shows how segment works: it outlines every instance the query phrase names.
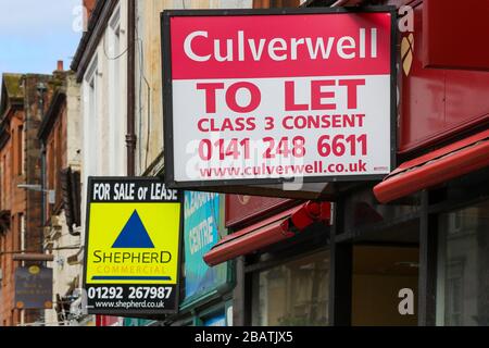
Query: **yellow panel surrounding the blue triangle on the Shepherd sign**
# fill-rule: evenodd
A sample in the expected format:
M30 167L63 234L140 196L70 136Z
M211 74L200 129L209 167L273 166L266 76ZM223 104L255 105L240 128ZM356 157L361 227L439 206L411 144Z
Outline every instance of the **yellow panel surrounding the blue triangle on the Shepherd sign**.
M114 248L137 211L153 247ZM180 204L91 203L87 284L176 284Z

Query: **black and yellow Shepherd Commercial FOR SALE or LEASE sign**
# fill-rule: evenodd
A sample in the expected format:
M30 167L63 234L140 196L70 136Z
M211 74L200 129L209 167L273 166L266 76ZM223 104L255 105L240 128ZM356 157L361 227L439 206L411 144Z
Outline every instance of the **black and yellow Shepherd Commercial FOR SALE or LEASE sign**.
M178 309L180 192L156 178L90 177L85 289L90 314Z

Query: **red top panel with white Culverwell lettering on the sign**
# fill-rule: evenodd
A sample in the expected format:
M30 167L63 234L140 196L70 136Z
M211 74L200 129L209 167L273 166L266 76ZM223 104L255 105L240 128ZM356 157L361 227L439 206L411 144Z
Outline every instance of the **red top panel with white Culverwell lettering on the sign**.
M228 15L228 16L175 16L171 17L172 78L267 78L329 75L384 75L390 73L389 13L329 13L293 15ZM312 58L308 50L298 50L296 58L277 60L268 54L267 45L273 39L290 42L297 38L311 38L316 42L324 36L325 23L328 37L351 37L360 42L360 28L371 33L377 28L377 54L364 54L361 59L344 59L333 49L327 62ZM205 34L200 34L204 32ZM242 32L241 40L238 32ZM196 36L197 35L197 36ZM366 47L369 35L364 36ZM265 44L261 54L253 54L249 40ZM240 44L241 41L241 44ZM185 45L184 42L187 42ZM217 42L217 44L216 44ZM221 42L221 44L220 44ZM233 58L223 61L215 54L218 46L231 44ZM248 42L244 45L244 42ZM259 44L256 44L259 45ZM287 44L290 48L290 44ZM359 48L359 46L358 46ZM238 53L240 51L240 53ZM197 55L197 57L196 57ZM238 58L238 55L241 55ZM359 55L358 55L359 57Z

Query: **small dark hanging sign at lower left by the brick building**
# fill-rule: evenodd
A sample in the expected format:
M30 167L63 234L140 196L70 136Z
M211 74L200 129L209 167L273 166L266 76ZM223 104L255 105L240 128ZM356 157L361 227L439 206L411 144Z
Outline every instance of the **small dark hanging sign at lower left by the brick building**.
M15 270L15 308L52 308L52 269L32 265Z

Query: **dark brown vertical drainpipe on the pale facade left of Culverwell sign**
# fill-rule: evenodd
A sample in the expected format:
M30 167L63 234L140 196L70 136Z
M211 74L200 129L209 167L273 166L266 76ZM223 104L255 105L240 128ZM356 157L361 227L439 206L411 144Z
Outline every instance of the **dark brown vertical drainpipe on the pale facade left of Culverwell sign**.
M127 175L136 173L136 132L135 132L135 102L136 102L136 0L128 0L127 13Z

